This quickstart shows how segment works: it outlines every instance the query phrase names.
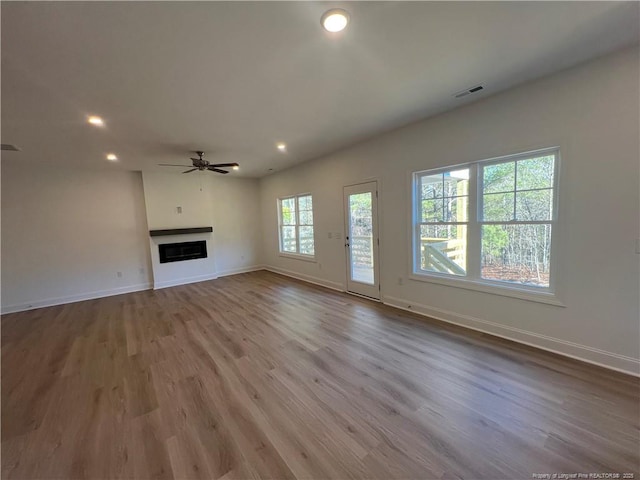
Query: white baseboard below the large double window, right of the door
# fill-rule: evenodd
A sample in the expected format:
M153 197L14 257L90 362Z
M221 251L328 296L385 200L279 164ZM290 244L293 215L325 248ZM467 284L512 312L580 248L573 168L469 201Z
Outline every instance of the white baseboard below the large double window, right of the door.
M625 355L607 352L587 345L580 345L578 343L569 342L559 338L529 332L520 328L490 322L470 315L461 315L441 308L421 305L402 298L385 296L383 298L383 303L401 310L414 312L436 320L488 333L513 342L523 343L525 345L547 350L565 357L575 358L610 370L616 370L628 375L640 377L640 360L633 357L627 357Z

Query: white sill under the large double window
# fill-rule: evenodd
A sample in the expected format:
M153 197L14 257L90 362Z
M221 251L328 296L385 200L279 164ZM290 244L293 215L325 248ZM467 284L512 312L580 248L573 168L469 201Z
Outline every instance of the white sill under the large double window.
M528 288L519 288L516 285L504 285L502 283L494 283L488 281L469 280L466 278L451 278L449 276L441 276L438 274L421 274L412 273L409 275L412 280L419 282L437 283L448 287L463 288L465 290L474 290L477 292L489 293L491 295L500 295L503 297L518 298L529 302L546 303L556 307L566 307L555 293L545 291L533 291Z

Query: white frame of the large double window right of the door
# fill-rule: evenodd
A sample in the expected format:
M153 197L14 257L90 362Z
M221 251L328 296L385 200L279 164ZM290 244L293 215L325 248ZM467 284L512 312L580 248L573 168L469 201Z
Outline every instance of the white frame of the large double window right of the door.
M545 155L554 155L554 170L552 188L553 209L550 220L543 221L484 221L482 220L482 167L507 162L517 162ZM508 297L530 300L551 305L565 306L558 295L558 277L560 276L559 262L559 186L560 186L560 164L561 155L560 148L548 147L538 150L531 150L521 153L509 154L500 157L493 157L473 162L467 162L456 165L447 165L433 169L426 169L411 172L410 182L411 192L410 199L410 219L411 219L411 236L410 236L410 270L409 278L413 280L436 283L441 285L453 286L469 290L476 290L485 293L503 295ZM441 174L452 170L469 169L469 190L468 190L468 212L467 212L467 245L466 245L466 274L455 275L441 272L432 272L422 270L420 257L420 226L419 216L421 208L420 196L420 178L425 175ZM514 180L514 192L517 191L517 185ZM514 195L515 197L515 195ZM459 224L460 222L456 222ZM464 222L462 222L464 223ZM500 280L484 279L481 276L481 260L482 260L482 225L509 225L509 224L549 224L551 225L551 248L549 253L549 286L538 287L533 285L522 285L517 283L509 283Z

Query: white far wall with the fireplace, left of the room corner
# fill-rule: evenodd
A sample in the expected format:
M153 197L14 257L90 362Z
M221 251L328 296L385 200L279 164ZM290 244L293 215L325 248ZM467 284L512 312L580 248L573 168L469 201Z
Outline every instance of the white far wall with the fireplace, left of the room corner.
M3 160L2 312L151 288L150 229L213 226L210 262L195 274L203 278L260 266L258 180L208 172L144 179L143 189L140 172ZM164 286L183 275L174 270Z

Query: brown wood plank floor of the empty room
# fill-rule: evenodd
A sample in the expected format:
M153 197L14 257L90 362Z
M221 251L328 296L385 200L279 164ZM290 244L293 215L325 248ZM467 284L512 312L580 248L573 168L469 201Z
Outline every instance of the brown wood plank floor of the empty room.
M268 272L2 318L2 478L638 478L639 405L637 378Z

